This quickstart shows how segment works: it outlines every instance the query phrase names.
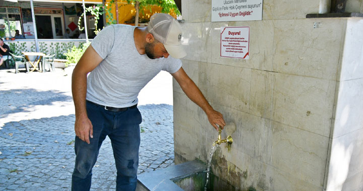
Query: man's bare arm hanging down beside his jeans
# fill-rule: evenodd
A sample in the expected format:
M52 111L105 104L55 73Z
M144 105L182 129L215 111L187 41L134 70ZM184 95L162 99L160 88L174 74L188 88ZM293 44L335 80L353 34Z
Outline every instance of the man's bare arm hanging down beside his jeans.
M87 74L102 61L102 58L90 45L78 61L72 73L72 95L76 110L75 132L82 141L90 143L93 127L86 112Z

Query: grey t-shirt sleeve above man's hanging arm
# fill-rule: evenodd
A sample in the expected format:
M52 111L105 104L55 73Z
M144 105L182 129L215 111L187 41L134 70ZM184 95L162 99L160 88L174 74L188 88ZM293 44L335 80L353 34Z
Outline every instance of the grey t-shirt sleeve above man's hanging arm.
M105 59L106 56L111 52L114 42L115 32L114 27L108 26L102 29L97 36L92 40L92 47L101 56L102 59Z

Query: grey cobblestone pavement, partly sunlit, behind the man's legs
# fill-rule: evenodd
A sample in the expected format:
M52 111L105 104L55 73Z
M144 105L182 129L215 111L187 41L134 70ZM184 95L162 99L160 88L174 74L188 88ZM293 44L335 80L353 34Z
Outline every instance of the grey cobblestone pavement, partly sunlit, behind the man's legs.
M0 70L0 190L70 190L75 161L70 75L63 70ZM143 97L151 94L148 91L143 90ZM138 173L173 165L172 106L148 103L139 110L143 122ZM107 137L93 168L91 190L114 190L115 177Z

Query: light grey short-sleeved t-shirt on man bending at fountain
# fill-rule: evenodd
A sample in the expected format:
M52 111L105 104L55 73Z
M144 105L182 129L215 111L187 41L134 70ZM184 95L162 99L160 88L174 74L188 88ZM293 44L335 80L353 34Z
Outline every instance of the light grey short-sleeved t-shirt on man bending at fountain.
M129 25L111 25L98 33L92 47L103 58L87 78L86 100L114 108L138 103L140 90L161 70L178 71L181 61L172 57L150 59L135 47Z

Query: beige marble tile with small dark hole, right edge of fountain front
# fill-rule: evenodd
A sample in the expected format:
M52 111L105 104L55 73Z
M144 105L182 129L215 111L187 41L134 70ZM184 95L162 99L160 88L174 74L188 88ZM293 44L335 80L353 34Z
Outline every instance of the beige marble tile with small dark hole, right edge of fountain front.
M272 119L329 137L335 86L336 81L275 73Z

